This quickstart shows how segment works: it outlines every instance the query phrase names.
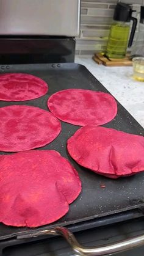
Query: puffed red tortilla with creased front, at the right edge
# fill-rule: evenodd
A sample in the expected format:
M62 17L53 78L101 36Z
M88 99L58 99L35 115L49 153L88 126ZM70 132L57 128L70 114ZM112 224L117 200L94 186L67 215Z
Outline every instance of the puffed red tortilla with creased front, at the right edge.
M81 166L110 178L144 170L144 137L87 125L68 139L68 152Z

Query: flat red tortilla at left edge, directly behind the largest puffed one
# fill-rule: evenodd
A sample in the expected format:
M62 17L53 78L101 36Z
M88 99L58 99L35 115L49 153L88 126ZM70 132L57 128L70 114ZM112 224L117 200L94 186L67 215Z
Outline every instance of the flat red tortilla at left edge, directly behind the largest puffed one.
M32 106L0 108L0 151L18 152L43 147L56 139L61 124L50 112Z

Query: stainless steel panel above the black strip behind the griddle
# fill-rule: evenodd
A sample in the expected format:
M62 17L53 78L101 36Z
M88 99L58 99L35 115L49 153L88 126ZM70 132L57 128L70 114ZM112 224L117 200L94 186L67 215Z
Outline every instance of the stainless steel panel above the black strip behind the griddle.
M0 35L79 35L80 0L0 0Z

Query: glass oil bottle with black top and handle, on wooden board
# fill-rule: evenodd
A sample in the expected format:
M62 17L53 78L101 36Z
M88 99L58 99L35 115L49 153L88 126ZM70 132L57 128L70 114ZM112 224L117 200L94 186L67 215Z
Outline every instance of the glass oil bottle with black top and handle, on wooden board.
M106 56L113 59L122 59L126 55L127 47L132 45L137 19L132 17L131 5L118 2L115 7L113 20L107 42ZM131 20L133 24L129 37Z

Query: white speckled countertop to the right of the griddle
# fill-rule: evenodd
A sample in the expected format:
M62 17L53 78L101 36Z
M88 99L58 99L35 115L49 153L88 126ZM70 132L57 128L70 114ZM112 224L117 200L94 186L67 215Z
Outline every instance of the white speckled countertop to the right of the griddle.
M144 82L132 79L132 67L105 67L90 56L76 56L144 128Z

